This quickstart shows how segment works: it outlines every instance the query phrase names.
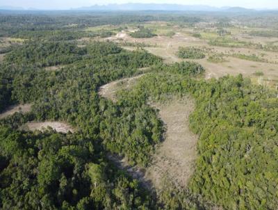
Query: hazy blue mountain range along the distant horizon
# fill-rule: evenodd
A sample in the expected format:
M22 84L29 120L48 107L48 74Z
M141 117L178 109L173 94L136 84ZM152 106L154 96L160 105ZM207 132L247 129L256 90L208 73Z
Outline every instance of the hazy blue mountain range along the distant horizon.
M24 9L22 7L0 6L0 10L39 10L36 8ZM40 9L44 10L44 9ZM181 5L174 3L123 3L123 4L108 4L95 5L89 7L72 8L69 10L76 11L140 11L140 10L156 10L156 11L207 11L207 12L231 12L231 13L245 13L256 10L241 8L241 7L222 7L217 8L205 5Z

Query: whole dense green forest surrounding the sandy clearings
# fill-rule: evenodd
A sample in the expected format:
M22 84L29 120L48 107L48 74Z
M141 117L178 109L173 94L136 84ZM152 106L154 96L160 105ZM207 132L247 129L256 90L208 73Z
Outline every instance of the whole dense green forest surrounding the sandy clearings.
M143 49L74 42L81 26L156 18L115 17L0 17L2 36L28 39L11 47L0 63L0 112L33 104L29 113L0 120L0 209L276 209L277 91L242 75L204 80L201 65L166 65ZM76 31L60 31L72 22L79 22ZM65 38L69 34L73 37ZM188 50L203 57L196 49L181 52ZM60 70L46 69L51 66ZM97 94L101 85L139 74L145 76L131 90L117 92L115 103ZM152 192L108 155L146 167L165 131L148 102L164 102L168 95L195 99L190 129L199 136L198 158L184 191L169 185ZM75 132L20 129L32 120L61 120Z

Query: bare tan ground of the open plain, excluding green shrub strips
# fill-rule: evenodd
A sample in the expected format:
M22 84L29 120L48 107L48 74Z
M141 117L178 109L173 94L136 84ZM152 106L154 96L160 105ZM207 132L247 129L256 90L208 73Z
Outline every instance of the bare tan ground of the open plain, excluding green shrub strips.
M163 24L163 23L161 23ZM154 26L154 23L149 23L150 26ZM155 27L155 26L154 26ZM248 49L244 47L240 48L230 48L230 47L218 47L208 45L208 40L206 38L194 38L190 33L193 29L181 29L178 26L172 26L171 29L175 29L177 32L172 37L167 37L165 35L159 35L154 38L131 38L129 31L122 31L117 35L106 38L104 40L112 40L114 42L132 42L138 43L143 42L147 45L152 45L156 47L144 47L147 51L156 56L161 56L165 63L180 62L182 60L195 61L203 65L206 69L206 78L210 79L212 77L219 78L227 74L237 75L243 74L243 76L251 76L253 81L259 79L258 76L254 74L258 71L263 72L263 79L265 81L277 81L278 79L278 54L272 51L262 51L258 49ZM161 31L161 30L160 30ZM248 38L249 42L261 43L265 45L268 42L267 38L253 37L246 34L240 33L238 31L232 31L234 36L238 36L244 40ZM209 37L208 33L208 37ZM240 40L240 39L238 39ZM277 38L271 38L270 40L278 40ZM193 59L181 59L176 56L179 47L201 47L206 49L206 58L202 60ZM124 49L133 50L136 47L124 47ZM224 54L224 59L226 62L223 63L211 63L207 60L209 55L213 54ZM256 54L260 58L267 60L267 62L257 62L252 60L243 60L240 58L235 58L232 54L245 54L252 55ZM271 71L270 71L271 70Z

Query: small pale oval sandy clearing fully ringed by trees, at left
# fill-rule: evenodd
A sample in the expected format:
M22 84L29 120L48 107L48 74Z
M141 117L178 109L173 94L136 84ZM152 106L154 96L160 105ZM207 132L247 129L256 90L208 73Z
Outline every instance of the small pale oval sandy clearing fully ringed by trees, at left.
M48 127L51 127L55 131L64 134L68 133L69 131L72 133L74 132L74 129L72 129L72 127L65 122L27 122L22 126L22 129L30 131L44 131Z

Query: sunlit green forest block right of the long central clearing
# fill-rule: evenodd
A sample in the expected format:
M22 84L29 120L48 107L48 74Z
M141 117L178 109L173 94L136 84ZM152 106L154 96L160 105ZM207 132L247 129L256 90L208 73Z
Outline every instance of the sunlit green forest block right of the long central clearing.
M197 107L190 125L200 137L190 188L225 209L275 209L278 108L270 106L275 95L242 76L199 83L193 95Z

